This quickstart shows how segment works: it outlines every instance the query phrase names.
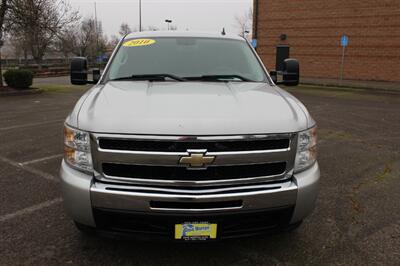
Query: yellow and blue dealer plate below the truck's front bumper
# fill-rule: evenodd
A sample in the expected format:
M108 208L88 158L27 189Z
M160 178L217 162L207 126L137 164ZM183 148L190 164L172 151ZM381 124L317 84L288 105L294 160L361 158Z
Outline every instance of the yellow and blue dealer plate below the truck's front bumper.
M217 238L217 224L193 222L175 225L175 239L208 240Z

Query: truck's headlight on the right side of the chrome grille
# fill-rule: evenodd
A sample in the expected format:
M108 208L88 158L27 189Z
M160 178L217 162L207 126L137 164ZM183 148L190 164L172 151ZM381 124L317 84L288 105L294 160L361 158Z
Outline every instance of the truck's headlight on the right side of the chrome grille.
M300 132L297 140L295 172L313 165L317 160L317 127Z

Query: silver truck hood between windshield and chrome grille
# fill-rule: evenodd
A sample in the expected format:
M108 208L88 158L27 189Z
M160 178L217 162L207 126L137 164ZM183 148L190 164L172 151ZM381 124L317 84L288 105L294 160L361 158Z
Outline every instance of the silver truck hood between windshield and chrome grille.
M296 98L266 83L115 81L84 97L70 120L98 133L287 133L306 129L310 120Z

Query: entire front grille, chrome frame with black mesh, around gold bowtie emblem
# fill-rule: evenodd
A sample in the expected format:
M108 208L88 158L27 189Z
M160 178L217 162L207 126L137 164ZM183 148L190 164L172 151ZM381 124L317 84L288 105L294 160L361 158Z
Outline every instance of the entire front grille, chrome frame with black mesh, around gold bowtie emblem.
M242 186L288 180L296 134L241 136L137 136L92 134L96 179L142 186ZM181 164L200 153L204 167Z

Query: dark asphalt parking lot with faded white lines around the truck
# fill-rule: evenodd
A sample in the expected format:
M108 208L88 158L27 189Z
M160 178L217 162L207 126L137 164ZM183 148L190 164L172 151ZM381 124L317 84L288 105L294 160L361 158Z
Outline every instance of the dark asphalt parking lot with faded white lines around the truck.
M58 169L84 92L0 98L0 265L400 264L400 96L291 89L319 126L321 190L295 232L207 244L80 234Z

